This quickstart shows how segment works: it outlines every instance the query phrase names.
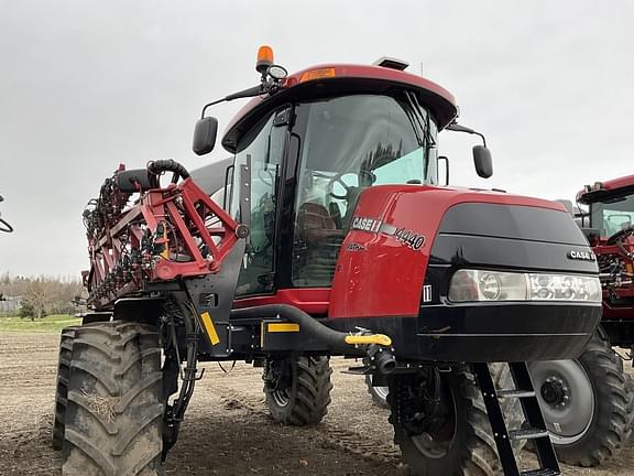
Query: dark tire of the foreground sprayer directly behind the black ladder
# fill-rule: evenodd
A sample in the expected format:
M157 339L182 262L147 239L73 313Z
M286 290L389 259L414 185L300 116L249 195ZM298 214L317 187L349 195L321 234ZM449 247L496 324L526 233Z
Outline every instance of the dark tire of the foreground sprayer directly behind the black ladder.
M507 366L490 365L498 388L512 388ZM394 443L401 447L403 461L414 476L494 476L502 472L495 440L482 393L468 367L455 367L451 372L440 374L445 399L450 409L447 423L440 430L414 434L400 423L398 405L394 397L398 391L395 379L390 387L392 407L390 422L394 426ZM520 428L523 413L517 399L501 401L502 411L510 429ZM436 423L437 425L437 423ZM515 441L515 454L523 442Z

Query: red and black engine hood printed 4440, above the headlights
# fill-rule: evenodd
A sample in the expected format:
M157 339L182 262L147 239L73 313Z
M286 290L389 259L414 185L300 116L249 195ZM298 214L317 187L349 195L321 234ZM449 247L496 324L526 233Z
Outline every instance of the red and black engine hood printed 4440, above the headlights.
M434 252L437 240L441 253ZM504 257L496 253L501 246L510 250ZM339 252L329 315L417 315L430 259L450 268L597 272L595 262L569 259L569 251L590 249L558 203L481 190L372 186L361 194Z

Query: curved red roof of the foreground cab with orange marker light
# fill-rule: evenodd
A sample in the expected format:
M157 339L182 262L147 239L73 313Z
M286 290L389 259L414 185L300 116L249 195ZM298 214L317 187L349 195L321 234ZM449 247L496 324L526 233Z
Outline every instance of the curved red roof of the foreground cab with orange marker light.
M381 94L397 88L416 93L420 104L428 107L436 118L439 130L458 116L458 106L451 93L420 76L384 66L326 64L288 76L274 95L251 99L229 123L222 145L229 152L236 152L244 132L271 110L286 102L338 94Z

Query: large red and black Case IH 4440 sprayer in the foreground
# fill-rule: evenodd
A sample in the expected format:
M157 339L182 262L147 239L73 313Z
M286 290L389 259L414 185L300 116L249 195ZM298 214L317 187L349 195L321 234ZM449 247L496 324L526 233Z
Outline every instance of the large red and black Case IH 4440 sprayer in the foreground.
M332 355L390 387L414 474L518 475L526 440L542 467L524 474L559 474L524 363L579 356L601 314L597 263L576 258L590 248L559 204L437 185L438 131L473 131L405 66L288 76L261 48L261 83L221 99L253 98L222 138L227 210L174 161L105 182L84 214L95 312L62 335L66 476L158 474L198 361L262 366L273 419L317 423ZM490 176L484 147L474 160Z

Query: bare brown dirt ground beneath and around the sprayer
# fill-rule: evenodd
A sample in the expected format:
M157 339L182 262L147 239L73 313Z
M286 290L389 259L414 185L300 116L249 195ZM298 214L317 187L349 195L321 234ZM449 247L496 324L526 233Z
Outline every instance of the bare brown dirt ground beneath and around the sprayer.
M0 476L62 473L50 446L56 348L56 335L0 333ZM206 365L166 474L404 476L387 411L371 403L362 378L341 372L348 365L334 360L332 403L314 429L269 419L261 369L236 365L225 374ZM566 466L564 474L632 475L634 442L600 469Z

